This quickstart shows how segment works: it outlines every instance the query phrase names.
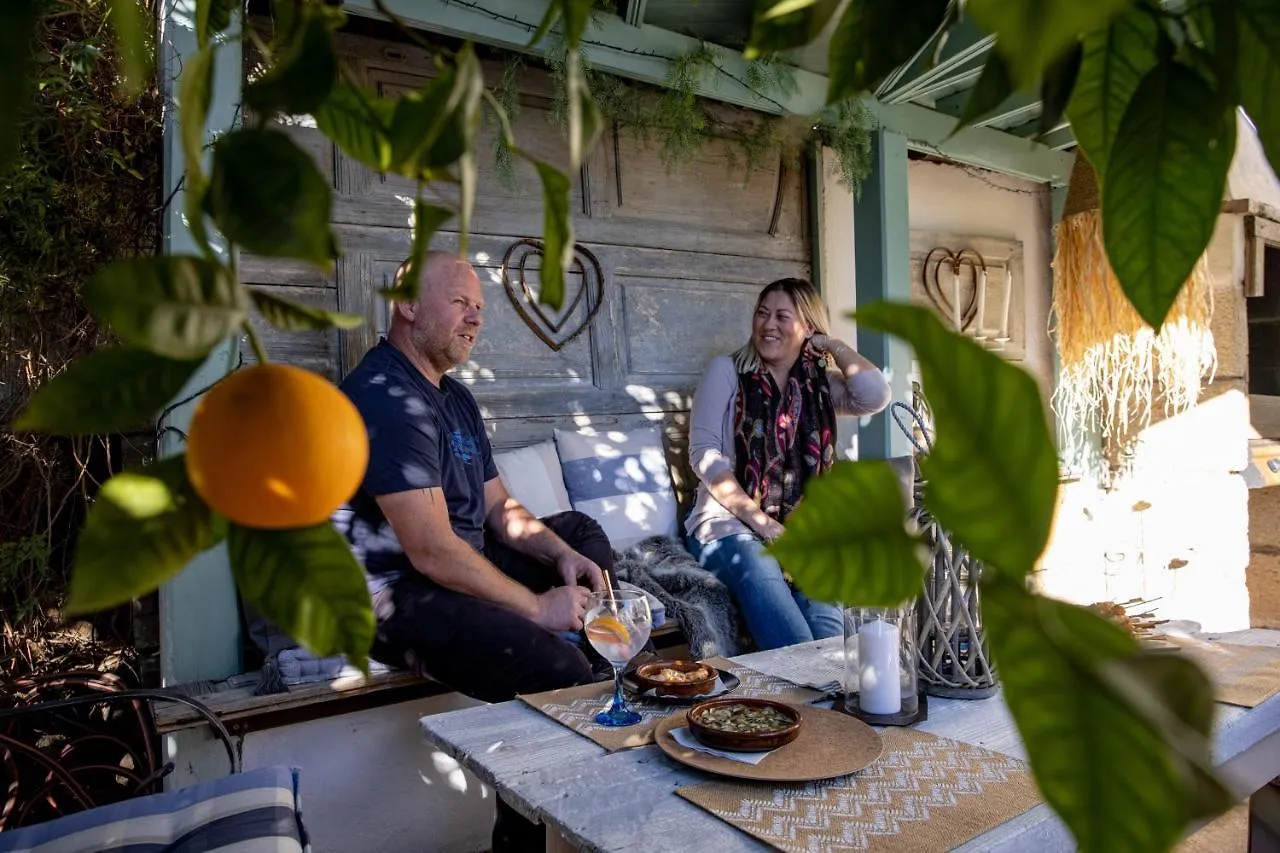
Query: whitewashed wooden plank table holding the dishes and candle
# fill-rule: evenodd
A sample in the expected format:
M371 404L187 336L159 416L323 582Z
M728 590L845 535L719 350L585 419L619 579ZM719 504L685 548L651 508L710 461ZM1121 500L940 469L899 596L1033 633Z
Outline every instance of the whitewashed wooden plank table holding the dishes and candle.
M1217 639L1216 637L1212 639ZM1280 647L1280 631L1221 635L1233 643ZM778 675L788 662L835 657L829 639L735 661ZM1280 694L1256 708L1219 704L1213 760L1233 790L1244 797L1280 775ZM422 717L426 738L454 757L525 817L547 824L548 849L584 850L764 850L760 841L676 797L707 776L658 747L605 753L594 742L522 702L503 702ZM998 695L987 699L929 697L924 731L1025 758L1021 740ZM1074 850L1057 816L1041 804L980 835L960 850Z

